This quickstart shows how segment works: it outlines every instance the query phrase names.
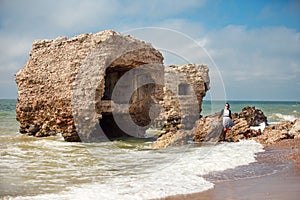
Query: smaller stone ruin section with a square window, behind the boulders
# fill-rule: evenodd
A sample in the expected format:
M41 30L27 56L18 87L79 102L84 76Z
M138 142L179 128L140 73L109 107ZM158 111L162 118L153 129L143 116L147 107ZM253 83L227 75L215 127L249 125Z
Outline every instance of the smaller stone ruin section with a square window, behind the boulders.
M191 129L202 111L202 99L209 90L208 67L186 64L165 68L163 115L165 126Z

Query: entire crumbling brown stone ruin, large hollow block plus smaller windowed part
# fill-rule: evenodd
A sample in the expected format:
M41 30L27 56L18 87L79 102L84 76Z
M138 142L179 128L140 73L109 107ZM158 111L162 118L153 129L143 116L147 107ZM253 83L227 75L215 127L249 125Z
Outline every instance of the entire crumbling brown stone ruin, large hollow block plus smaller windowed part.
M205 65L164 67L151 44L114 31L35 41L16 82L20 132L66 141L189 126L209 89Z

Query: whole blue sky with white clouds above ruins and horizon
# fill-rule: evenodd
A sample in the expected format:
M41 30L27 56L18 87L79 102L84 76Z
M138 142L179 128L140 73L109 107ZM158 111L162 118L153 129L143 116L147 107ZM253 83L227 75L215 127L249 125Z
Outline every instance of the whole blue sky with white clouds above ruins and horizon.
M0 0L0 99L17 98L34 40L108 29L151 42L166 65L181 64L168 52L195 61L188 42L202 49L207 98L218 98L219 78L229 100L300 101L299 0Z

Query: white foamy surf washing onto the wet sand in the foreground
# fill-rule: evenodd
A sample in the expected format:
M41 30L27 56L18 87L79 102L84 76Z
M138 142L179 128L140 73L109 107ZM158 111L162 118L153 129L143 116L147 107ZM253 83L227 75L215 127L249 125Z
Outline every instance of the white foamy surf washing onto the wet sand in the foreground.
M102 183L73 185L67 191L14 199L155 199L177 194L202 192L213 183L202 176L255 162L263 146L255 141L222 143L193 148L165 168L148 174L116 176Z

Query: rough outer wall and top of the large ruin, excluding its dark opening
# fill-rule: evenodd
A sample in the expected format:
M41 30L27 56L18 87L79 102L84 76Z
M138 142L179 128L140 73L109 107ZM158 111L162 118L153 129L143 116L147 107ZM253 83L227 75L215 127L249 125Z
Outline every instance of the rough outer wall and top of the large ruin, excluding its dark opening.
M76 124L75 116L85 113L77 117L89 126L101 119L101 106L95 105L101 105L106 68L129 70L162 61L149 43L114 31L35 41L26 65L16 74L20 132L34 136L60 132L67 141L80 141L78 129L91 127L82 121ZM90 116L91 111L98 115Z

